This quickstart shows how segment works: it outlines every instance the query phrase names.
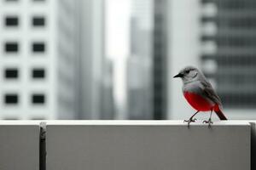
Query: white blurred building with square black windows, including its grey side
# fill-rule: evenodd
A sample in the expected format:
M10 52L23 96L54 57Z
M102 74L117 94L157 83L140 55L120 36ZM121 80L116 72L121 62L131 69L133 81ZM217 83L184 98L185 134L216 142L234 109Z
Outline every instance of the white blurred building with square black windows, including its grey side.
M77 115L77 2L0 2L0 118Z

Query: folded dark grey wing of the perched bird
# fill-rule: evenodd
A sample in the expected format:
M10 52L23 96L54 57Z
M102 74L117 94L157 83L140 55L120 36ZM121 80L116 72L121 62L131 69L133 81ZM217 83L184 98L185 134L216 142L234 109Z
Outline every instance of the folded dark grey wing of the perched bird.
M216 92L213 90L210 82L201 81L201 84L202 84L202 91L207 96L207 98L211 99L215 104L221 105L221 100L219 99Z

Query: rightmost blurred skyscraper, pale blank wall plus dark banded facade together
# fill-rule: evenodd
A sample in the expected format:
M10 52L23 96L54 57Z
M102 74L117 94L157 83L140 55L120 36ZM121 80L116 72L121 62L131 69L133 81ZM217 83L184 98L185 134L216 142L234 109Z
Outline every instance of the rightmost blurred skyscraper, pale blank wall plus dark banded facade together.
M170 118L186 118L194 111L183 99L182 83L172 79L185 65L196 65L206 73L230 119L255 118L256 3L174 0L170 7Z

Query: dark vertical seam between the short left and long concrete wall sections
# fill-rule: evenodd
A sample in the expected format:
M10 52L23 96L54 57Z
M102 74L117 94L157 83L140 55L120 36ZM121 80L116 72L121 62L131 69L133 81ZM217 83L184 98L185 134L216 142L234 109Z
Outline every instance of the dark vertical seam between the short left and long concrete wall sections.
M39 170L46 169L46 122L40 122L40 142L39 142Z

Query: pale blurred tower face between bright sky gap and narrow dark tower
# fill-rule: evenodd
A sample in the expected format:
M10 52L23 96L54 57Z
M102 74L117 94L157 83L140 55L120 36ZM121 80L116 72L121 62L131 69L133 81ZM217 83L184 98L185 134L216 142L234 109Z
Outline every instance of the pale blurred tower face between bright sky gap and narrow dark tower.
M153 0L131 1L130 56L127 59L128 119L153 119Z

